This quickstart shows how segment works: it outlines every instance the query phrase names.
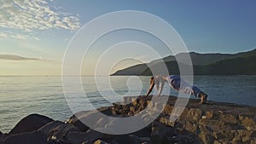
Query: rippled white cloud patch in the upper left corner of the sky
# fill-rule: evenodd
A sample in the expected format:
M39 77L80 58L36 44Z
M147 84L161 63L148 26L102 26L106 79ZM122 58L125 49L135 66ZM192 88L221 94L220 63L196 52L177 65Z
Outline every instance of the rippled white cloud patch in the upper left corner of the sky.
M74 31L80 26L78 15L55 11L46 0L1 0L0 20L0 27L25 32L51 28Z

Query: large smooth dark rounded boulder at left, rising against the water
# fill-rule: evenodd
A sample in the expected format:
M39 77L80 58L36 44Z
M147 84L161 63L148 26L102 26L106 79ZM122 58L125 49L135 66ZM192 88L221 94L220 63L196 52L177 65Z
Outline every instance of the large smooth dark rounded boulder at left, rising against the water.
M52 122L53 119L39 115L32 114L26 118L22 118L18 124L16 124L13 130L10 130L9 135L15 135L20 133L32 132L38 130L45 124Z

